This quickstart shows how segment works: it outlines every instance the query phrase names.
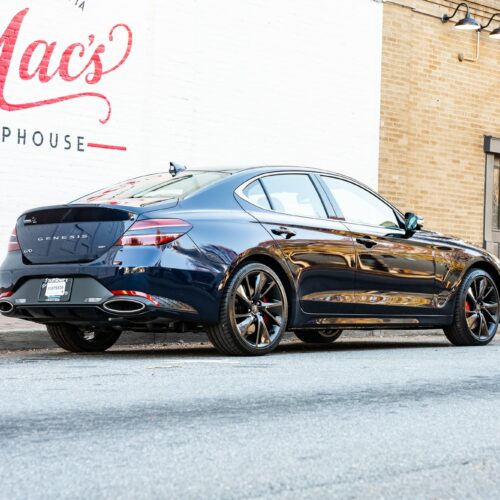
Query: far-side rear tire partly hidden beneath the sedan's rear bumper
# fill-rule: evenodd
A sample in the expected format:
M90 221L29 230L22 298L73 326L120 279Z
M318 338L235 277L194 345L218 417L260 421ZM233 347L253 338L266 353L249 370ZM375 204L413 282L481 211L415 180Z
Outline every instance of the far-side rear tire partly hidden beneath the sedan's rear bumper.
M102 352L109 349L121 335L121 332L111 330L87 332L64 323L47 325L47 331L59 347L70 352Z

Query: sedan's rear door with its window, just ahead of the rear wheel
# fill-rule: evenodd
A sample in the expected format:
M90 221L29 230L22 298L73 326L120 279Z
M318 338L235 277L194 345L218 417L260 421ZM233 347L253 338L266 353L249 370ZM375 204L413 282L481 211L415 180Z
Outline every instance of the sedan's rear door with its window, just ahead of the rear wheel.
M245 209L281 248L296 277L302 310L352 313L354 243L342 222L329 220L331 207L320 198L315 181L305 173L266 175L241 194L249 202Z

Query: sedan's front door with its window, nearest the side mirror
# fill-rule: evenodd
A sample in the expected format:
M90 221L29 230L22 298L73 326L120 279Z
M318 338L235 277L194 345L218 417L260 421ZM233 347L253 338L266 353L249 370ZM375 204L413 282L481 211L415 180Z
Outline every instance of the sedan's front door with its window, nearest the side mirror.
M418 231L407 237L393 208L367 189L322 176L356 249L355 313L418 316L435 313L431 243Z

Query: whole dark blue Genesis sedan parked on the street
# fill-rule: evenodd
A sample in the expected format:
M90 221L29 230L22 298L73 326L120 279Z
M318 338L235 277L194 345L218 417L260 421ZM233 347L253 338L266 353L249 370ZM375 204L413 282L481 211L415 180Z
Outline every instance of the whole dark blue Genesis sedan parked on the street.
M127 180L17 221L0 312L47 325L73 352L123 330L204 329L232 355L285 330L443 328L485 345L499 321L499 261L425 231L359 182L301 167L188 170Z

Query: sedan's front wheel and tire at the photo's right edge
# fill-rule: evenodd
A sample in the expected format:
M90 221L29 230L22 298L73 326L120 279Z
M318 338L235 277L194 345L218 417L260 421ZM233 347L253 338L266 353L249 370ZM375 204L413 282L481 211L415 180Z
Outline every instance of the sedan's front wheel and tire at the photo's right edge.
M482 269L469 271L456 293L453 323L444 328L457 346L489 344L500 319L500 300L494 279Z

